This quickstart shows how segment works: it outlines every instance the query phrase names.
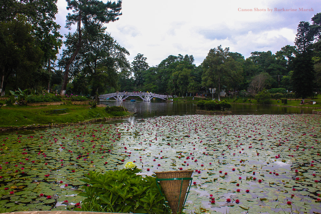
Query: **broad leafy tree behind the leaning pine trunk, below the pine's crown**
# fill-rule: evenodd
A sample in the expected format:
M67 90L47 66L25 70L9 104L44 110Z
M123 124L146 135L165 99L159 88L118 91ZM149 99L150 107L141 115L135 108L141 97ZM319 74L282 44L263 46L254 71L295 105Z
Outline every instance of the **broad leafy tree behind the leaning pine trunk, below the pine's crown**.
M129 52L121 47L106 28L100 28L95 36L87 31L83 34L82 49L75 57L70 73L73 76L86 76L91 86L91 95L96 96L107 89L107 86L118 89L118 73L129 69L126 55ZM62 62L69 58L73 46L77 43L77 34L69 34L65 41L67 49L63 52ZM97 97L96 97L97 98Z

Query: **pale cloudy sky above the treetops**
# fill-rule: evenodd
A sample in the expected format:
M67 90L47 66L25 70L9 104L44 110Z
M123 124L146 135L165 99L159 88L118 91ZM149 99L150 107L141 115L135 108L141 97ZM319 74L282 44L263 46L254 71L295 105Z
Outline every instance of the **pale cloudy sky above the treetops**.
M65 0L58 0L57 6L56 22L64 35L69 11ZM254 51L274 54L294 46L299 22L311 22L321 4L319 0L123 0L121 12L119 20L106 27L129 51L130 63L137 54L143 54L149 66L181 54L193 55L199 65L210 49L220 45L245 58Z

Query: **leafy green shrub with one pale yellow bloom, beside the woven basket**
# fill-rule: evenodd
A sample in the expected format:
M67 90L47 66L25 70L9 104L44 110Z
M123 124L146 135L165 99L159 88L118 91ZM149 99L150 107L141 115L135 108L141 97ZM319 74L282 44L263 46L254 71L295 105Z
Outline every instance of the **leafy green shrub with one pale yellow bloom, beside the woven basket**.
M82 201L81 208L74 211L169 214L156 179L136 175L140 171L134 167L109 170L105 174L89 172L85 175L88 179L81 181L90 185L84 186L85 192L78 194L86 199Z

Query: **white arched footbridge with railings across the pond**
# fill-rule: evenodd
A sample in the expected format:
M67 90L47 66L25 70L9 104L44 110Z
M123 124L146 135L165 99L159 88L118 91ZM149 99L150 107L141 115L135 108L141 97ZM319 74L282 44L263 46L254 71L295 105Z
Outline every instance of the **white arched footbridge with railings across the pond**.
M117 101L122 101L128 97L140 97L143 101L151 101L153 98L172 98L170 95L155 94L151 92L116 92L110 94L99 95L100 100L105 100L109 98L115 98Z

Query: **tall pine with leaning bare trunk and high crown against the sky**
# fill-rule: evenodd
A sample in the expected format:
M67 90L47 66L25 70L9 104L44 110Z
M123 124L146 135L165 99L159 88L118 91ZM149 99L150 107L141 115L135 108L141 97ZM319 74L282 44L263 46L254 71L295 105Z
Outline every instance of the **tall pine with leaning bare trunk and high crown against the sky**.
M108 1L103 3L98 0L66 0L67 10L73 10L73 14L68 13L66 28L71 29L71 26L75 24L77 26L77 43L73 47L73 54L68 58L65 63L64 81L61 86L60 95L64 96L67 83L69 67L77 56L79 50L82 47L82 33L85 30L91 36L95 36L103 23L109 23L110 21L116 21L119 19L122 13L121 1L117 3Z

